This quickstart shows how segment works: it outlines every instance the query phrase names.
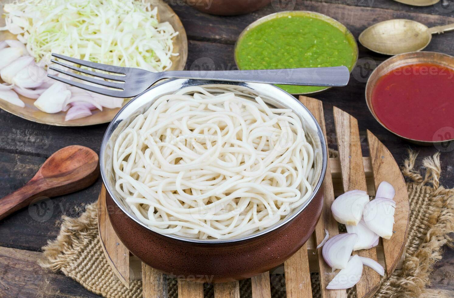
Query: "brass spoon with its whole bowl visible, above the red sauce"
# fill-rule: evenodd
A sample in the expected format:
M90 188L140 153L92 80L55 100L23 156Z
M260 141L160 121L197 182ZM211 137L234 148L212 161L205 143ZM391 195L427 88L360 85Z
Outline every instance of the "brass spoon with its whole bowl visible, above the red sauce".
M432 34L454 30L454 24L428 28L413 20L387 20L370 26L359 37L361 45L385 55L417 52L429 45Z

